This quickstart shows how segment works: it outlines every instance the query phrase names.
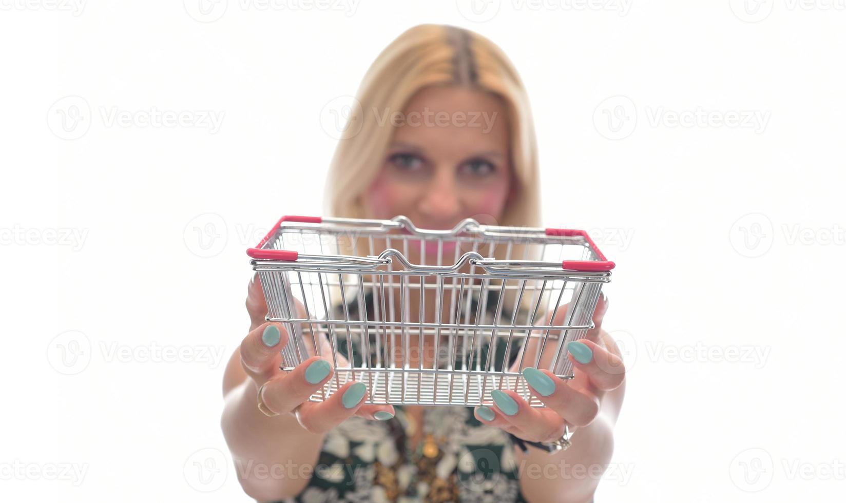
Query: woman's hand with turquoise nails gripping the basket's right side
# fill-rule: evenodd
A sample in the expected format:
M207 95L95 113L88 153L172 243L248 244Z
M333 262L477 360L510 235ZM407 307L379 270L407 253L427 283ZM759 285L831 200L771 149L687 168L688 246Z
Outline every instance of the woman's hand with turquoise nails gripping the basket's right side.
M574 366L573 379L559 379L549 370L523 369L532 394L547 407L530 407L511 390L493 391L494 407L476 407L475 418L530 442L559 440L564 435L565 422L570 433L591 424L600 413L602 396L622 385L625 378L619 349L602 331L607 307L603 296L593 314L596 327L585 338L567 346L567 357ZM555 324L558 323L556 316Z

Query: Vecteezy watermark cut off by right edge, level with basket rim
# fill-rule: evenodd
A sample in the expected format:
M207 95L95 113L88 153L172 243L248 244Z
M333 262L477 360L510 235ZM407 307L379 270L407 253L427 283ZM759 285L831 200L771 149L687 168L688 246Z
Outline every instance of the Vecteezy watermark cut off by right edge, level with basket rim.
M788 246L846 246L846 229L838 224L812 227L799 223L772 224L769 216L750 213L734 221L728 230L728 241L744 257L760 257L772 249L779 238Z

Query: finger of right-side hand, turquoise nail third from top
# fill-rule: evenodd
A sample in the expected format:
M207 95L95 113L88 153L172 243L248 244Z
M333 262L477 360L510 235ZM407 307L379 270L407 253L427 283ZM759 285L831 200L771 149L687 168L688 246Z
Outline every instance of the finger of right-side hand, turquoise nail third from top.
M530 442L546 442L564 434L564 418L549 409L530 407L511 390L491 391L494 407L503 419L519 430L519 438Z

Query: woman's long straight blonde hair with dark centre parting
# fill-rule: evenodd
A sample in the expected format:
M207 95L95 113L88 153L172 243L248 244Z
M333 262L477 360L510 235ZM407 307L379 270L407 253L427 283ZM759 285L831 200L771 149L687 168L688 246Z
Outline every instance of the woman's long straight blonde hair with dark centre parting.
M513 192L499 225L540 227L535 128L529 98L517 70L503 51L483 36L447 25L417 25L391 42L371 64L356 93L346 124L352 134L339 140L327 178L327 216L367 218L361 195L382 168L393 135L389 123L364 110L401 111L412 96L431 85L461 85L503 100L511 139ZM349 129L345 129L348 130Z

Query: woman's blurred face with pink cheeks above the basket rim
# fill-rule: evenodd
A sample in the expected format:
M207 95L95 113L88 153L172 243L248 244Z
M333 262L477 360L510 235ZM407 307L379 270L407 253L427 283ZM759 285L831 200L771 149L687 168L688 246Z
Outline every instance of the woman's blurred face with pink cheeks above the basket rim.
M449 229L464 218L497 224L512 190L508 116L489 93L420 90L394 126L382 170L364 194L370 218L408 216L416 227Z

